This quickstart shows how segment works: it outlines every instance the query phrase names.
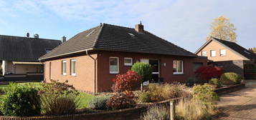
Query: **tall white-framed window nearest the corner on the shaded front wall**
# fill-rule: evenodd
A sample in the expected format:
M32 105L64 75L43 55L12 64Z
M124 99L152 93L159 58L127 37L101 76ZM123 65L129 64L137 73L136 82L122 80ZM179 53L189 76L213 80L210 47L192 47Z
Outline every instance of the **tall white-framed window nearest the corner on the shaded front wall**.
M110 57L109 71L110 71L110 74L118 74L119 73L118 57Z

